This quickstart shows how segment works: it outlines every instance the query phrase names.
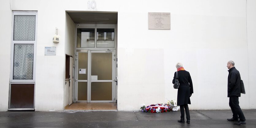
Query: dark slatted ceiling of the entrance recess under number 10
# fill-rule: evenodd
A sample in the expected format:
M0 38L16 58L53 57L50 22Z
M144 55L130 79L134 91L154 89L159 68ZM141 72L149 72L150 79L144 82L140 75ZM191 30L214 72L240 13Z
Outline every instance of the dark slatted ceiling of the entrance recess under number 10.
M117 24L117 13L67 12L74 23Z

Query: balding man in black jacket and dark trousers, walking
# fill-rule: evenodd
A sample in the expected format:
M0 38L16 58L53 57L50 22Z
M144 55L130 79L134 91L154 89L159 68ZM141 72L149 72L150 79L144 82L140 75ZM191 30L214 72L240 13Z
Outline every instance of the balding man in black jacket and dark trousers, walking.
M233 113L233 118L228 121L238 121L235 125L245 125L245 117L239 106L238 97L241 96L241 77L238 70L235 69L233 61L227 62L228 77L227 77L227 97L229 97L229 106ZM240 119L240 120L239 120Z

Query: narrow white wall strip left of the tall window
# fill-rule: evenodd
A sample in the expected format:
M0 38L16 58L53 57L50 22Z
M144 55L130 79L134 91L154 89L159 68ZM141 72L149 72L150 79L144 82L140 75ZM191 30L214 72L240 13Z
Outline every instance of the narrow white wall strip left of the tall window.
M9 1L0 2L0 111L8 109L9 82L10 82L10 53L12 36L12 11ZM4 19L4 20L2 20Z

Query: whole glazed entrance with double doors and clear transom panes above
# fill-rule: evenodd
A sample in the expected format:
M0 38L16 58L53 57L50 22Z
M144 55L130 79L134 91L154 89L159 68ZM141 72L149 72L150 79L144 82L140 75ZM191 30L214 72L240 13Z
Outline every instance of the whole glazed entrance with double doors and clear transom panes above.
M116 24L76 24L75 35L74 103L116 103Z

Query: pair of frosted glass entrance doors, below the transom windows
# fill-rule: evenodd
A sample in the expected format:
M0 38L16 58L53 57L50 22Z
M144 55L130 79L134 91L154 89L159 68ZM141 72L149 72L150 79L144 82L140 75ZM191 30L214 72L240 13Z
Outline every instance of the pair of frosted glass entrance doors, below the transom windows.
M76 52L75 102L115 102L115 50Z

